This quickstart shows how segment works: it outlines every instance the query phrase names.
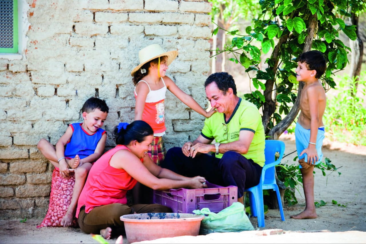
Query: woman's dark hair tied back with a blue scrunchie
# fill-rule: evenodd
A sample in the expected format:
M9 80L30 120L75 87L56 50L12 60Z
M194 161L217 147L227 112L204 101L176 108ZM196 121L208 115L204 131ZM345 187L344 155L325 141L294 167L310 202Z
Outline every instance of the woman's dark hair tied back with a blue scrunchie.
M113 129L113 139L117 145L128 145L132 140L137 140L140 143L145 140L146 136L150 135L154 135L153 129L142 120L135 120L125 128L116 126Z

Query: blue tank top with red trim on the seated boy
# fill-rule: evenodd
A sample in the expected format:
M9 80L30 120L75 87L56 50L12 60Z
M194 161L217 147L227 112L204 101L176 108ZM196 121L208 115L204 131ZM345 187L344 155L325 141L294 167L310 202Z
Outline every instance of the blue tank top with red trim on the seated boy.
M70 124L72 128L72 136L66 144L65 157L75 158L76 154L80 158L86 158L93 154L102 135L106 133L104 129L98 128L93 134L89 135L81 127L81 123Z

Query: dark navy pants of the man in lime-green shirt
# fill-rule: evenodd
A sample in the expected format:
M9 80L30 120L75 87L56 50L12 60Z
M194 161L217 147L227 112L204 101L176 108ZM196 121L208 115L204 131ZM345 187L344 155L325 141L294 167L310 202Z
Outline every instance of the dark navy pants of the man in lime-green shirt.
M182 148L173 147L168 150L162 168L187 177L203 176L210 183L227 187L238 187L238 198L244 194L244 189L259 183L262 167L234 151L224 153L216 158L209 154L196 155L195 158L186 157Z

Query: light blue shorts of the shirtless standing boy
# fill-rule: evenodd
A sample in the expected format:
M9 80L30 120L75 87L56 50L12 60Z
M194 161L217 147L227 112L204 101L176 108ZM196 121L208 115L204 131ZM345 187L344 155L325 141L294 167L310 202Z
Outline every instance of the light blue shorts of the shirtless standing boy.
M315 165L319 164L321 159L323 158L323 153L321 151L321 147L323 145L324 140L324 127L318 128L318 135L317 135L317 141L315 145L315 149L318 153L318 161L315 162ZM310 129L304 129L299 123L296 123L295 127L295 142L296 142L296 150L298 153L299 159L304 158L305 162L307 162L307 154L304 153L300 156L300 153L307 149L310 142ZM302 168L301 165L299 165L299 168Z

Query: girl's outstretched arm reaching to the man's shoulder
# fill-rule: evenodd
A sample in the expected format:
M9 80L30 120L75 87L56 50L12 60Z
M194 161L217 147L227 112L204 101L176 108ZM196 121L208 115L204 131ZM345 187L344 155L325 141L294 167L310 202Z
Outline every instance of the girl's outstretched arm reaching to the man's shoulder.
M167 86L167 89L171 91L171 93L173 93L180 101L182 101L185 105L187 105L200 115L208 118L216 112L215 108L211 108L210 111L207 112L201 107L201 105L198 104L198 102L193 99L193 97L182 91L168 76L164 77L164 82Z

